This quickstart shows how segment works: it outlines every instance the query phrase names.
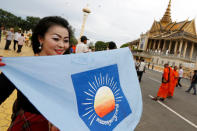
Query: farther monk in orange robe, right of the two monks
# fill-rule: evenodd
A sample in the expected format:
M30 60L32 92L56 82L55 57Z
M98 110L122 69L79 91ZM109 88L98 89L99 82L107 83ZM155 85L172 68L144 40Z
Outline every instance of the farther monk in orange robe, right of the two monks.
M174 70L172 71L171 81L169 84L169 92L168 92L168 98L172 98L174 95L174 89L176 87L176 84L178 82L179 73L177 72L177 66L174 67Z

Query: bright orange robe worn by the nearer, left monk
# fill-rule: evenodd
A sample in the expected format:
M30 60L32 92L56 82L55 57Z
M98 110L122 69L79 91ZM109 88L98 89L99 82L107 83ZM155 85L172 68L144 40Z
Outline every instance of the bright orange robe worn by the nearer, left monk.
M166 81L168 81L168 75L169 75L169 68L166 67L166 68L164 68L164 71L163 71L163 78ZM169 82L161 83L161 85L159 87L159 91L157 93L157 96L165 99L168 95L168 86L169 86Z

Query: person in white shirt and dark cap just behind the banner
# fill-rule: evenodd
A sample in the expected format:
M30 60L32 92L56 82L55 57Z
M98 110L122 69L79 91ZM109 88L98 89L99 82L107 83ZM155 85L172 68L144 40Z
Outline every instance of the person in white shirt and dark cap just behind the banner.
M86 36L81 37L81 43L78 43L76 46L76 53L87 53L89 52L87 46L87 40L89 40Z

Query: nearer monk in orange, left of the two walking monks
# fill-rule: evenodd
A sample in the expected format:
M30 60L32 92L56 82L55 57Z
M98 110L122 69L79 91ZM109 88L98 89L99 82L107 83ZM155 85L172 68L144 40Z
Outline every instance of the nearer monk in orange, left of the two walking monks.
M152 100L157 101L159 98L161 101L165 100L165 98L168 95L169 81L170 81L170 67L168 66L168 64L165 64L161 86L159 88L157 96L154 97Z

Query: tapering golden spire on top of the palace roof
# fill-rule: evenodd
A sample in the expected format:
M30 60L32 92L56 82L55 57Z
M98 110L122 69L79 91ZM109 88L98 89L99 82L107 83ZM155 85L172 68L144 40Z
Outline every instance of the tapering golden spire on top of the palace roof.
M171 0L169 1L168 8L166 9L165 14L164 14L164 16L162 17L162 19L160 21L161 23L167 24L167 23L171 23L172 22L170 11L171 11Z

